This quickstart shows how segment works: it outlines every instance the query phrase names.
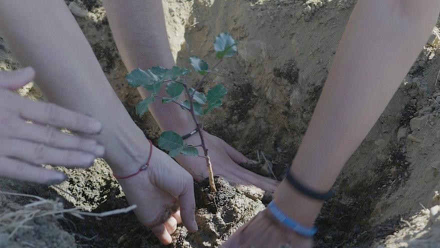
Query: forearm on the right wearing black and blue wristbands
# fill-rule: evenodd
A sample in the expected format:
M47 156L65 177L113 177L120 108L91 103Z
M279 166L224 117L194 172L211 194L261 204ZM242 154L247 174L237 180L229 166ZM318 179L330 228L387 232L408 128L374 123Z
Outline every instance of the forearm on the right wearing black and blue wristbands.
M308 187L320 192L331 187L386 107L437 20L440 1L428 2L359 0L356 4L291 167ZM275 199L279 204L289 201L284 210L307 224L321 206L286 182Z

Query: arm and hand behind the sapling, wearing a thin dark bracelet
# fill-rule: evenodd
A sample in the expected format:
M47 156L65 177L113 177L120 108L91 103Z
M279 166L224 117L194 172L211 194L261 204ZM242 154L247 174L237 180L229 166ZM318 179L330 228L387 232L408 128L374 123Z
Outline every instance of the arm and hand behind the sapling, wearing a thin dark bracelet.
M166 35L165 20L161 1L103 1L108 22L119 50L119 54L128 71L136 68L149 69L152 66L171 68L174 60ZM145 98L149 93L139 87L140 95ZM160 95L167 96L165 87ZM172 130L180 135L194 130L191 115L181 110L176 104L161 104L155 101L149 110L160 129ZM206 132L205 132L206 133ZM228 181L240 184L253 184L266 191L273 192L277 182L259 176L240 167L240 163L253 163L223 140L203 134L212 160L215 175L223 176ZM187 140L188 144L199 145L200 139L194 135ZM203 158L177 156L176 160L195 180L207 177Z

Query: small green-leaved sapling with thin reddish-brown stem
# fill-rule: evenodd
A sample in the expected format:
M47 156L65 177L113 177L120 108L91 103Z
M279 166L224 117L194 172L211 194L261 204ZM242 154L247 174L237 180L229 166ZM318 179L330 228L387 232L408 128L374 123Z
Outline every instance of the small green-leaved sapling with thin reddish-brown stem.
M186 82L185 75L191 71L182 67L173 66L171 69L160 66L152 67L146 71L135 69L126 75L126 80L133 87L142 86L151 93L150 96L136 104L136 113L142 116L148 111L148 104L160 99L162 103L173 103L179 105L183 110L189 111L195 124L195 129L200 137L199 145L188 145L183 142L180 135L173 131L164 131L160 134L158 145L161 149L167 150L169 156L174 157L179 154L186 156L202 157L206 161L208 170L209 185L211 191L216 191L214 176L212 173L212 164L209 158L208 149L203 139L203 125L198 118L218 108L222 104L222 99L227 90L221 84L217 84L207 90L206 95L200 92L207 77L226 57L232 57L237 52L237 43L228 33L219 34L214 41L215 57L217 63L209 70L208 64L196 56L189 57L189 63L194 72L198 73L200 80L191 85ZM158 93L163 84L166 84L165 90L168 97L159 96ZM181 101L181 94L184 94L185 100ZM197 147L201 147L203 155L198 154Z

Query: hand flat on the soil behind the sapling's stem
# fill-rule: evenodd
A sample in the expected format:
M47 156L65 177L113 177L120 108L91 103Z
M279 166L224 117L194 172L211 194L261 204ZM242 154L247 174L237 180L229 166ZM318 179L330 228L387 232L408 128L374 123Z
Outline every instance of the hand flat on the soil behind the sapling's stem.
M278 186L277 181L255 174L238 165L240 163L256 163L255 161L246 158L226 142L207 132L203 131L203 138L206 147L209 149L208 153L214 175L224 177L232 183L255 185L271 193L275 191ZM194 134L185 139L185 142L190 145L199 145L200 137L198 134ZM203 154L200 147L197 149L199 154ZM195 180L201 181L207 177L206 160L204 158L179 155L176 160Z

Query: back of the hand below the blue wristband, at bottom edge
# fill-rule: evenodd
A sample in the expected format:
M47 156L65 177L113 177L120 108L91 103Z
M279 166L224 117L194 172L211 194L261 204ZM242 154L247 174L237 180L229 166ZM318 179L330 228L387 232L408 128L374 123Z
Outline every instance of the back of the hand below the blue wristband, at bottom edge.
M267 209L236 230L221 245L222 248L292 247L311 248L311 238L287 229L275 220Z

